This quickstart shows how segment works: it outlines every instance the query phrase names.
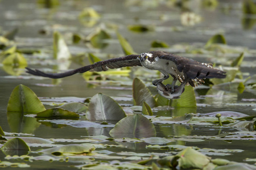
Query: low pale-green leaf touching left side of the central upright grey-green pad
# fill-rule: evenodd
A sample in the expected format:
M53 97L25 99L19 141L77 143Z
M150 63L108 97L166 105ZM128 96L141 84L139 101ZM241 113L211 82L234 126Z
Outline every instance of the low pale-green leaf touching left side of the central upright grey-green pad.
M69 112L75 112L75 113L85 113L88 109L86 105L82 103L77 103L77 102L65 103L57 108L65 109Z

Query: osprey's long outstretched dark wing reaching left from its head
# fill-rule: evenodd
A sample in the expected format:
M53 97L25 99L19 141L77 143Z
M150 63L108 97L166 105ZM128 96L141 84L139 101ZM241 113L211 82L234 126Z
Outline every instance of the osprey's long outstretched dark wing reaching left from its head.
M112 58L112 59L108 59L105 61L96 62L93 65L88 65L88 66L80 67L75 70L66 71L64 73L44 73L39 70L32 70L28 67L26 67L26 69L27 69L26 72L29 74L32 74L32 75L45 76L48 78L59 79L59 78L64 78L65 76L74 75L76 73L84 73L89 70L106 71L106 70L108 70L108 68L109 69L117 69L117 68L128 67L128 66L142 66L138 57L139 57L139 55L131 54L131 55L125 56L125 57Z

